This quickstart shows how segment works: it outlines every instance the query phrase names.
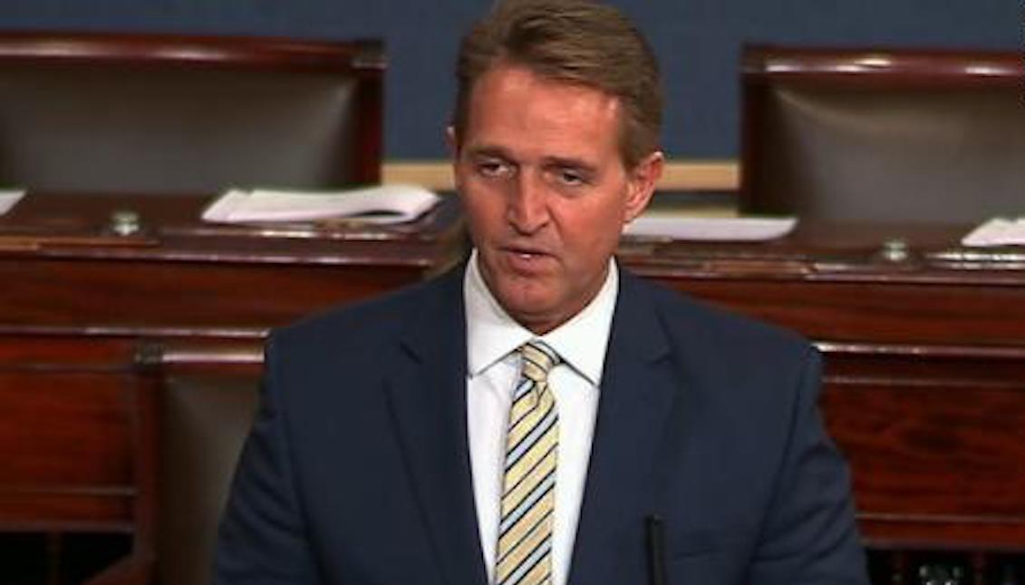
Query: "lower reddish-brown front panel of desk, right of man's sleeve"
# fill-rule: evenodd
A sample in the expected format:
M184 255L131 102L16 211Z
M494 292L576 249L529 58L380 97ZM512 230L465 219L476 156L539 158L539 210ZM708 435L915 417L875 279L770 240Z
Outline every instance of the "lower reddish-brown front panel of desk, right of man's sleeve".
M1025 384L1006 386L828 385L823 408L850 458L859 509L1025 534Z

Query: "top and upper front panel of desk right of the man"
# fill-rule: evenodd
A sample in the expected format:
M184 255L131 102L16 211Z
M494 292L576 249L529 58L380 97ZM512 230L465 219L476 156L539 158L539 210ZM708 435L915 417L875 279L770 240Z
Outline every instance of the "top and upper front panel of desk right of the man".
M1025 250L968 257L954 245L967 229L821 223L760 245L627 245L623 259L817 340L1025 347ZM907 260L884 258L896 240L909 245Z

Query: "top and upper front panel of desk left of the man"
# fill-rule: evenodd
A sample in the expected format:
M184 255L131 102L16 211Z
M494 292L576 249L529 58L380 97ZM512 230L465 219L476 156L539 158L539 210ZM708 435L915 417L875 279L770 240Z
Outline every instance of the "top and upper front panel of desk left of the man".
M0 332L258 337L422 279L456 221L447 201L394 228L202 224L209 200L31 195L0 219ZM110 233L123 209L139 233Z

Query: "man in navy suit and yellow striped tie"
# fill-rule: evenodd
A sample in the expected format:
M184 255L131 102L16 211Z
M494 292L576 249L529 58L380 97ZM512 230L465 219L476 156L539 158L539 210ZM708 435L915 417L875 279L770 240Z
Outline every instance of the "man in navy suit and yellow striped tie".
M458 80L475 251L272 336L216 582L865 583L816 353L613 260L663 164L633 27L500 2Z

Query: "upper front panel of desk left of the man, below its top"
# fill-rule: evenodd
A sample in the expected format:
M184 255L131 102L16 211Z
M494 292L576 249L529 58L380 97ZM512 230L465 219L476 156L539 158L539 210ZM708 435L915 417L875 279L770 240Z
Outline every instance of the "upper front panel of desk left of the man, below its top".
M360 244L368 245L368 244ZM422 278L417 264L0 258L2 327L258 335Z

